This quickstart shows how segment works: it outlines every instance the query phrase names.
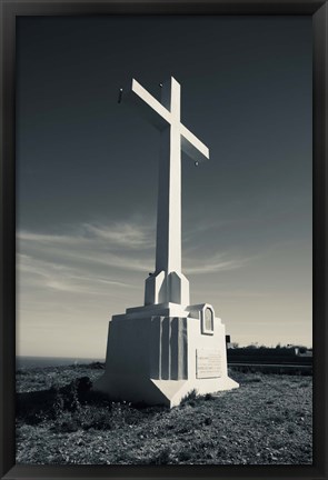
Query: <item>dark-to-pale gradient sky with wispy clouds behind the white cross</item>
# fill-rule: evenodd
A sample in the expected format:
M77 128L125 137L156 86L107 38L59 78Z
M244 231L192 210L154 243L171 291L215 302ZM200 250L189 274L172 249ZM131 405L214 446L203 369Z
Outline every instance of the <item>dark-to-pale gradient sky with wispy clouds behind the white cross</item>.
M182 158L182 272L240 346L312 346L310 17L21 17L17 353L105 358L155 269L159 132L135 78L210 151Z

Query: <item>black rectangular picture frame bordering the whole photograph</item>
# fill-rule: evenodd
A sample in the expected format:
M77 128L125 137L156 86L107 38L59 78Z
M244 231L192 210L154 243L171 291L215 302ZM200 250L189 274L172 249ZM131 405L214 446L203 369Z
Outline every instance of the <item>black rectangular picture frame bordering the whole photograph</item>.
M1 479L326 479L327 451L327 72L328 6L316 0L1 0ZM16 466L16 19L19 16L300 14L314 26L314 464L312 466ZM328 296L327 296L328 297Z

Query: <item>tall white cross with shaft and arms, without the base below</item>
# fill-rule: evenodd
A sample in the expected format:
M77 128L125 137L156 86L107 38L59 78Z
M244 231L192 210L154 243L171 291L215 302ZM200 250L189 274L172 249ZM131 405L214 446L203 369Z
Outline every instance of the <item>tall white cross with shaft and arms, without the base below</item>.
M181 272L181 150L197 163L209 159L208 148L180 121L180 84L173 77L161 86L161 102L137 80L120 98L137 104L161 131L159 164L156 274Z

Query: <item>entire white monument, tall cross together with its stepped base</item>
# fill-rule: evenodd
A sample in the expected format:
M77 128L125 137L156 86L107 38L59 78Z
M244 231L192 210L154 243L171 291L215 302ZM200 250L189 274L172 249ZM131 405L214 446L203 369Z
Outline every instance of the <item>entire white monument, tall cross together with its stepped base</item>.
M181 150L197 163L208 148L180 122L180 84L161 86L161 102L135 79L119 101L136 104L161 132L156 270L145 306L109 322L106 371L95 389L112 400L173 407L199 394L237 388L228 377L225 326L208 303L190 306L181 272Z

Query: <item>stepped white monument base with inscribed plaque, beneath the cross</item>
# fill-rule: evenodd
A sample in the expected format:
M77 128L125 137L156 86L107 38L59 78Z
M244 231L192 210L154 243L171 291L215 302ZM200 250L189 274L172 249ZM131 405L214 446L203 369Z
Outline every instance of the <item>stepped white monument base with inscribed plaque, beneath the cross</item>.
M162 303L112 317L106 371L93 389L113 401L171 408L192 390L238 387L228 377L225 326L212 307Z

